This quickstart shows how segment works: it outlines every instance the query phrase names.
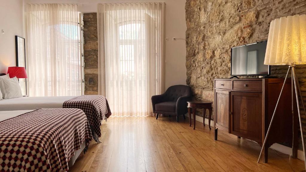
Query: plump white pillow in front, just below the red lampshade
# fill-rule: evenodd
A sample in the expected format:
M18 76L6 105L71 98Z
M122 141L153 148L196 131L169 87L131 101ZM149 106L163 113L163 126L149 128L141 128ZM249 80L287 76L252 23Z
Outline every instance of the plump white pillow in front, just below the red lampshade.
M2 79L1 82L2 85L4 85L4 90L5 90L5 92L3 93L4 99L13 99L13 98L22 97L22 92L17 77Z

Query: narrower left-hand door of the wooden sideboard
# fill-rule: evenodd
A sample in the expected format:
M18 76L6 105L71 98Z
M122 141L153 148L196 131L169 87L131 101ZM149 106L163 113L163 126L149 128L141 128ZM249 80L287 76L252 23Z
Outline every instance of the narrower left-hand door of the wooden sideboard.
M228 131L230 92L215 90L215 126Z

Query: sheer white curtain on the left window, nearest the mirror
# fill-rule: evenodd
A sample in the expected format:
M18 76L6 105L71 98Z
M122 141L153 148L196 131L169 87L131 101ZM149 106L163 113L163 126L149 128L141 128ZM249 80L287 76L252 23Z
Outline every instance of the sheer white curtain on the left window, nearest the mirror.
M77 5L27 4L30 96L81 94Z

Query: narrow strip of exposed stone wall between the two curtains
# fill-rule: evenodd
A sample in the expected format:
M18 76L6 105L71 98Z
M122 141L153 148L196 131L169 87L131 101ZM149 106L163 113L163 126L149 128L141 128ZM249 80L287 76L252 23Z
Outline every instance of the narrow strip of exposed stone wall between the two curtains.
M97 13L84 13L85 95L98 94L98 21Z

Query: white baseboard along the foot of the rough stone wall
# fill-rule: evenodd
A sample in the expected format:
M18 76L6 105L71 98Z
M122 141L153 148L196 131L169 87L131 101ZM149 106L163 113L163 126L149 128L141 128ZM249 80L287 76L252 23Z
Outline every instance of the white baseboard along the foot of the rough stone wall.
M185 114L186 117L188 117L188 114ZM191 119L193 119L193 116L191 115ZM196 115L196 121L203 123L203 117L200 117ZM205 124L208 125L208 119L205 118ZM214 127L214 121L211 120L211 127ZM292 148L289 148L287 146L274 143L271 147L271 149L274 149L275 151L279 151L283 154L291 155ZM304 161L304 153L301 150L297 150L297 158Z

